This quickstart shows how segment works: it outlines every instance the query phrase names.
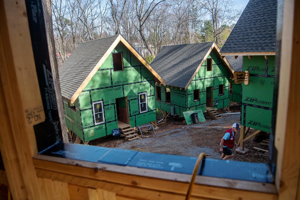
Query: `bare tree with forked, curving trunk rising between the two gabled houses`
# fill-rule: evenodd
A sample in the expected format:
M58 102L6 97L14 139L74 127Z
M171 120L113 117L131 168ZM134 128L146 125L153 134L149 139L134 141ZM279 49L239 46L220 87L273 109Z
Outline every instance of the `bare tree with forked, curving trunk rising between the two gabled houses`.
M164 2L166 0L152 0L150 3L148 3L146 0L136 0L135 1L135 8L137 13L137 19L138 19L138 25L136 28L138 29L138 32L140 33L141 39L143 40L143 43L145 44L145 47L148 49L151 55L155 56L155 53L153 49L150 47L147 38L144 34L144 25L147 19L149 18L151 12L154 8L158 6L161 2Z

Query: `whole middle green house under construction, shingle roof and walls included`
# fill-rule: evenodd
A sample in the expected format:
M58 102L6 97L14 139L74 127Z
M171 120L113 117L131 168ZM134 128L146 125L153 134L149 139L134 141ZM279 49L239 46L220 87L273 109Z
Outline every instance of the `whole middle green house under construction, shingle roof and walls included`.
M164 46L151 63L166 81L156 85L156 108L183 116L229 106L233 69L219 52L215 42Z

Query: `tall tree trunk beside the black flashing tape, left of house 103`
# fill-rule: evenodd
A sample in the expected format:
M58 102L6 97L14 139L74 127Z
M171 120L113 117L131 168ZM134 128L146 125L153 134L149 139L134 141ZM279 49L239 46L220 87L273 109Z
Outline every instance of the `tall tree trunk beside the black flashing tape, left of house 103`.
M58 114L59 114L60 124L62 128L62 134L63 134L63 142L69 143L67 126L66 126L64 112L63 112L63 98L60 90L58 64L57 64L56 53L55 53L56 51L55 51L54 35L53 35L51 0L42 0L42 7L44 13L44 20L45 20L45 29L46 29L49 57L50 57L50 65L51 65L53 83L55 88L55 96L56 96Z

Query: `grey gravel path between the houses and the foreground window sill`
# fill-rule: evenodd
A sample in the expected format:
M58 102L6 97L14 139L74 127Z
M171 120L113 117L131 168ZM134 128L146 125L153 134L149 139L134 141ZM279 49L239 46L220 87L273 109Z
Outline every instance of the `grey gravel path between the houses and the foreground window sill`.
M220 158L219 141L223 133L239 120L239 115L228 115L199 124L178 125L179 128L172 128L173 124L167 122L164 127L172 127L163 129L171 130L157 131L156 135L146 134L149 135L149 138L126 142L118 145L117 148L193 157L204 152L208 158ZM239 134L237 134L237 140L238 137Z

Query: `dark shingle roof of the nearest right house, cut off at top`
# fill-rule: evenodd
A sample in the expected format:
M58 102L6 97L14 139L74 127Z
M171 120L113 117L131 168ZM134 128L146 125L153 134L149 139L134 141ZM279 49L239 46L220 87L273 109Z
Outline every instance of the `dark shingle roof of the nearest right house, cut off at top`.
M221 53L275 52L277 0L250 0Z

